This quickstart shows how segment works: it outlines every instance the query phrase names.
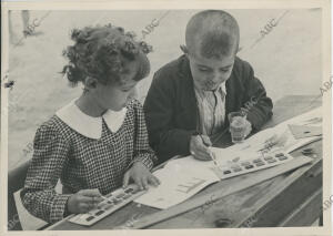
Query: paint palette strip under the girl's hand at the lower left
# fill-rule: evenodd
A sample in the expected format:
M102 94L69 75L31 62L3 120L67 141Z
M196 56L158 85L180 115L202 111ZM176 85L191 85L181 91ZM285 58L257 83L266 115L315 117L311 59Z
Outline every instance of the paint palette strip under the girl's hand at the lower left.
M85 226L93 225L117 209L131 203L145 192L147 191L139 191L137 185L129 185L125 189L119 188L111 194L108 194L105 199L101 202L97 208L91 209L85 214L73 215L69 222Z

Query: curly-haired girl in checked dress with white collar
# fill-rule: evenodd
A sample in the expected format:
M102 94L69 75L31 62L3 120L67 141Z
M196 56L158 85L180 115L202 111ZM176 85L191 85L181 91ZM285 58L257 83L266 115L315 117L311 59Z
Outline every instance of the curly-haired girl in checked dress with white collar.
M131 99L150 72L151 47L110 24L73 30L71 38L62 72L83 93L38 129L21 192L27 209L49 223L87 213L129 181L141 189L159 184L142 106ZM54 191L59 178L62 194Z

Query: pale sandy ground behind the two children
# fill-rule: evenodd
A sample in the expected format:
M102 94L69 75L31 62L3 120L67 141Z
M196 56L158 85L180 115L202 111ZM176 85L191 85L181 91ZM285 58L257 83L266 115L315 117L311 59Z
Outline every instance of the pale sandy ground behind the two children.
M181 54L184 29L196 11L170 11L160 24L145 37L153 45L150 54L152 72L140 82L141 101L144 100L153 72ZM230 10L241 28L239 57L249 61L273 101L287 94L320 94L321 72L321 11L291 10L256 45L260 31L285 10ZM31 20L42 18L47 11L32 11ZM71 44L71 29L94 23L111 22L142 35L142 30L165 11L52 11L39 27L37 35L21 45L10 47L9 110L9 170L31 157L31 142L37 127L61 106L79 96L81 88L70 88L59 74L65 60L62 50ZM12 13L17 35L21 35L19 12ZM26 151L24 151L26 150Z

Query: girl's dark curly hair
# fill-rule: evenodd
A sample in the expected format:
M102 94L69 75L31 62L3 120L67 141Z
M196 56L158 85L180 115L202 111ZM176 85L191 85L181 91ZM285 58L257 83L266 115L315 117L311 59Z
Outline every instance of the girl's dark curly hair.
M63 50L69 64L63 66L71 85L84 81L87 76L95 78L102 84L120 82L125 60L137 61L139 69L134 81L140 81L150 72L147 54L152 47L144 41L135 41L135 33L124 32L123 28L107 24L105 27L85 27L71 32L74 45Z

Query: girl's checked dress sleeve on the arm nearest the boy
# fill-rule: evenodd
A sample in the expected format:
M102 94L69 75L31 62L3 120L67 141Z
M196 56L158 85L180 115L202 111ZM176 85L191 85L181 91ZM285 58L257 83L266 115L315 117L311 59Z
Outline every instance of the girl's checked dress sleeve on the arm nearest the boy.
M149 170L151 170L157 163L158 158L154 151L149 145L143 107L137 100L133 100L133 107L135 113L135 140L134 158L132 163L142 162Z

